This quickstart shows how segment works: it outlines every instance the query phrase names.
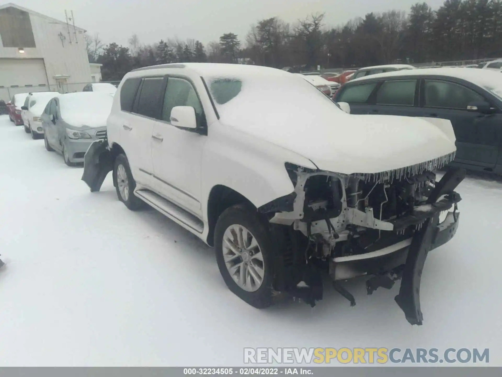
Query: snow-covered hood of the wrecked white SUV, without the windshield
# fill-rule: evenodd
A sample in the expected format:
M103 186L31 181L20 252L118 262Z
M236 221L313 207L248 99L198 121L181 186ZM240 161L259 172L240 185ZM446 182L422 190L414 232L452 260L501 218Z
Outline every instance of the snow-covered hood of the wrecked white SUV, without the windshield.
M299 117L302 110L308 116ZM242 116L221 121L308 158L319 169L344 174L399 169L456 151L449 121L445 128L412 117L351 115L337 107L331 113L327 117L304 107L259 113L261 121L253 125Z

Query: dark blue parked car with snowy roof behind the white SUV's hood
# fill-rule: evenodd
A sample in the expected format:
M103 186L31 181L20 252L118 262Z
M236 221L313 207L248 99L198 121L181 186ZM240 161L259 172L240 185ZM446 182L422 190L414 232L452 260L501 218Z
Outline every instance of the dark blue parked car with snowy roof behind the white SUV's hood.
M334 96L351 114L433 117L451 121L451 165L502 174L502 74L487 69L414 69L347 82Z

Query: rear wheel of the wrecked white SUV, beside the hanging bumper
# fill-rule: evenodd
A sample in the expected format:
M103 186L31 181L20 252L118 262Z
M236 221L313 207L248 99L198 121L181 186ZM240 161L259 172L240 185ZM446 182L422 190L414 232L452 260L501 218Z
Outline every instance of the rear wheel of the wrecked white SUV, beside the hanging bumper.
M144 206L145 203L134 195L136 181L131 173L129 161L123 153L119 154L115 159L113 180L117 182L115 189L117 191L118 200L125 204L127 208L136 211Z

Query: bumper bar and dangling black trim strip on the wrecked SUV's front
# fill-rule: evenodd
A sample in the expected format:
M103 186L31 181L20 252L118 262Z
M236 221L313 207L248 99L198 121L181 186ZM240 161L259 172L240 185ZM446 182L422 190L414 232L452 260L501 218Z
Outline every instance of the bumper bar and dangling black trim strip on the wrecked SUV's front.
M423 315L420 309L420 282L425 259L430 250L449 241L458 229L460 214L457 213L457 202L460 197L453 190L464 179L465 170L448 171L436 184L428 199L431 210L424 214L403 219L403 226L422 224L414 236L401 242L401 246L375 257L359 255L352 258L335 258L330 262L330 275L334 280L347 279L358 275L373 275L367 283L368 294L379 287L390 289L394 281L402 278L399 294L395 301L405 313L406 319L412 325L422 325ZM434 207L440 198L446 197L454 206L454 211L448 213L446 219L439 224L440 207ZM408 224L410 223L410 224ZM400 228L397 227L396 230ZM405 245L409 243L409 245ZM399 245L399 244L396 244ZM396 246L394 245L394 246ZM381 250L379 250L381 251ZM344 295L345 296L345 295ZM351 305L353 302L351 301Z

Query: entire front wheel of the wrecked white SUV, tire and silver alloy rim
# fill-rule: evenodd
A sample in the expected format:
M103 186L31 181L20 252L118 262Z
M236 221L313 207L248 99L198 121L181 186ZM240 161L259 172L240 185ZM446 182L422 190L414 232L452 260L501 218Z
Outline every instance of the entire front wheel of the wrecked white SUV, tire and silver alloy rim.
M272 242L267 224L244 205L226 209L214 230L216 261L226 286L255 308L273 304Z

